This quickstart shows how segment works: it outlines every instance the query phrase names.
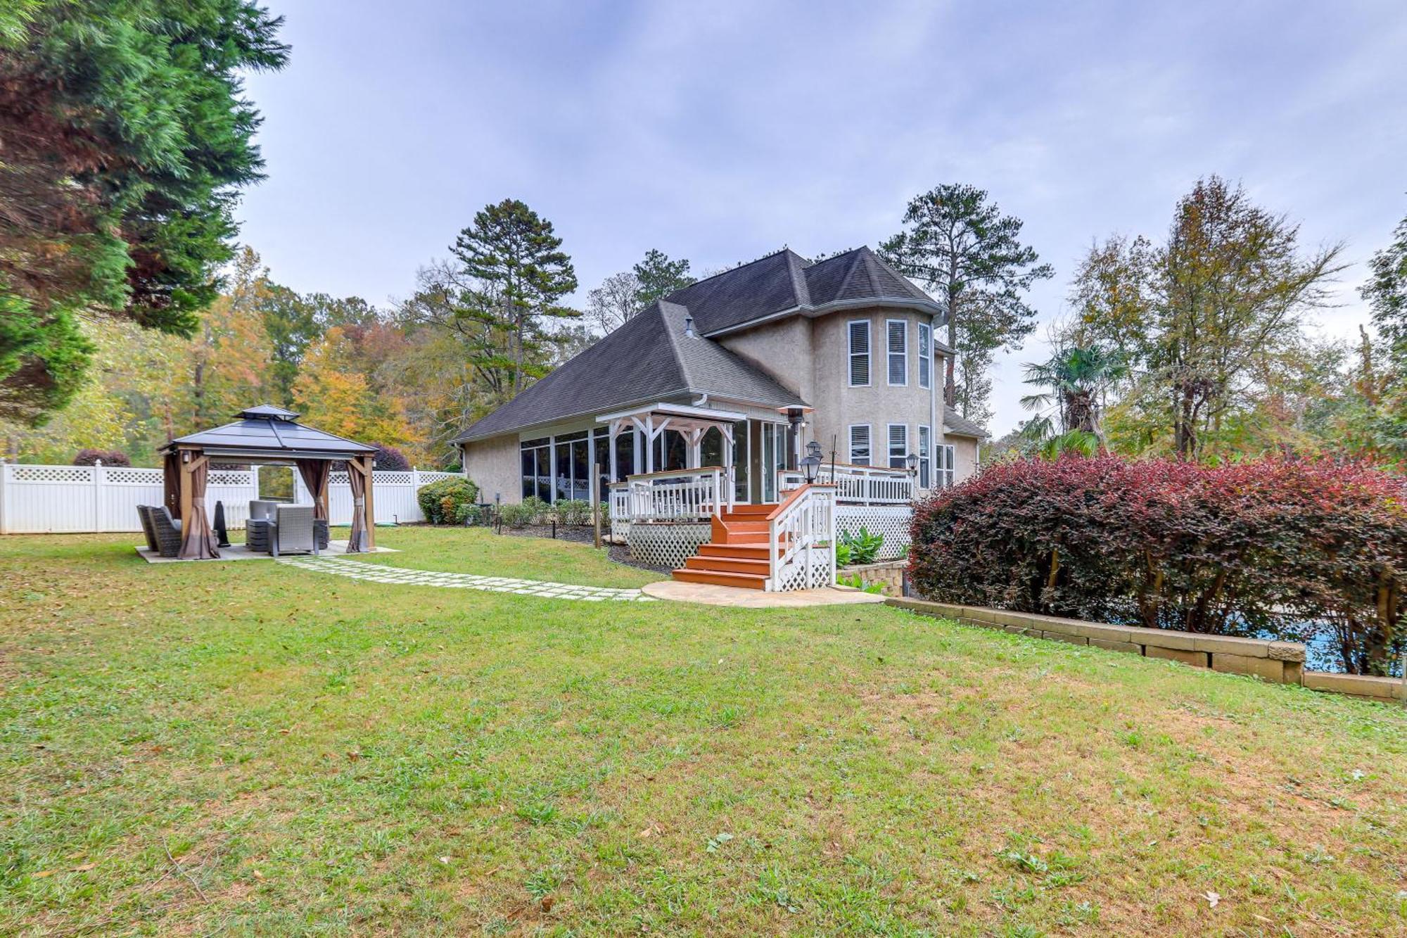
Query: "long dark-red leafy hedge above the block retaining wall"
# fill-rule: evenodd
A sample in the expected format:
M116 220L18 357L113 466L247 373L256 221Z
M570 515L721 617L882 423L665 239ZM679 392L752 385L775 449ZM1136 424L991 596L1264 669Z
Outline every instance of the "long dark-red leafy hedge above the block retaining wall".
M1307 638L1387 673L1407 644L1407 482L1363 463L1116 456L993 465L913 518L931 599L1195 632Z

